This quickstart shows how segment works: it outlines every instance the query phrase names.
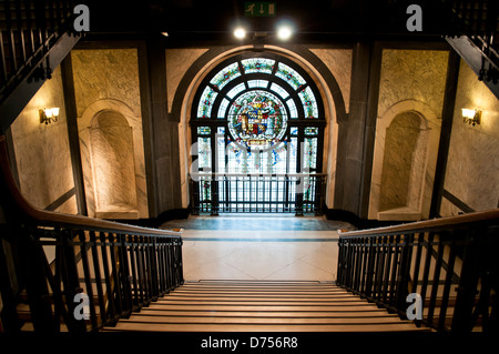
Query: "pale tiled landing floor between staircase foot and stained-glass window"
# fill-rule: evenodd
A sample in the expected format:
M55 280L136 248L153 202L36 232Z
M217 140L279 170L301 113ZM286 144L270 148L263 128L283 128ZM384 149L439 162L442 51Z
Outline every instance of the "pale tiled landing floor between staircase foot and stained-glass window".
M162 225L184 229L185 280L334 281L338 229L325 218L191 216Z

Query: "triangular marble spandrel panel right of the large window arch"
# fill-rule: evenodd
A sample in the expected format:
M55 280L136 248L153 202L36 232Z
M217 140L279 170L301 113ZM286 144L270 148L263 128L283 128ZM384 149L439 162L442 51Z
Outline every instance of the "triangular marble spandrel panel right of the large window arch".
M349 112L352 84L352 49L310 49L330 70L342 90L345 109Z

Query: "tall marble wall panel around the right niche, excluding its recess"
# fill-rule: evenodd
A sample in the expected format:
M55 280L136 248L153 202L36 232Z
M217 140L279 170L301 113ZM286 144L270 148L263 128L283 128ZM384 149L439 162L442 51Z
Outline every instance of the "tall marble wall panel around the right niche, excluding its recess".
M429 215L448 55L447 51L383 50L369 219L419 220ZM386 134L390 121L403 112L421 117L420 136L413 155L413 172L408 178L408 201L397 212L386 213L379 210ZM421 173L416 174L414 171L417 170ZM389 189L385 191L390 193Z

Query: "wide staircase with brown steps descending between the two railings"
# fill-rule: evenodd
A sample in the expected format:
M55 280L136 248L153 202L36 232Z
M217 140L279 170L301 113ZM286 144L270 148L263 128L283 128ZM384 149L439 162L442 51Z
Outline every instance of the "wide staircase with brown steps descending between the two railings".
M427 331L334 283L314 281L185 282L103 331L391 332Z

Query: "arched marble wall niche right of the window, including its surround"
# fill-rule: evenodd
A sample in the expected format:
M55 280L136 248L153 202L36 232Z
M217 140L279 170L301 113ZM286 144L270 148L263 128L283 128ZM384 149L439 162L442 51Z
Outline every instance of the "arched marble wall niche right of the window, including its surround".
M369 219L428 218L440 127L435 112L415 100L398 102L378 117Z

